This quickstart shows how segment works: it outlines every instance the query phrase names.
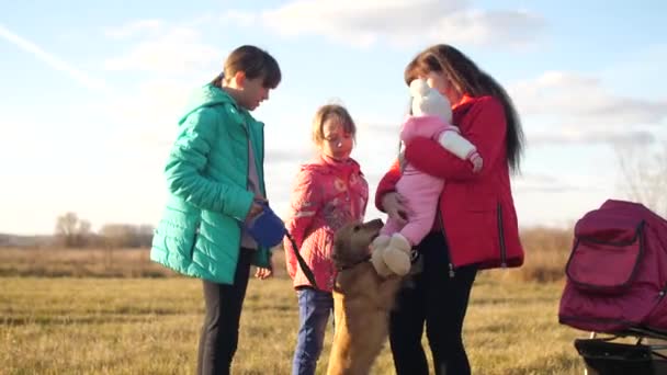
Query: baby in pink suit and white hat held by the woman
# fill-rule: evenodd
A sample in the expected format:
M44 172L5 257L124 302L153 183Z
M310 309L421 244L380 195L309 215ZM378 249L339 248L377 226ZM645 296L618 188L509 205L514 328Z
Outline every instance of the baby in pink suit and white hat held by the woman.
M440 94L437 90L430 88L422 79L416 79L410 82L410 94L412 96L412 113L406 120L403 126L400 138L403 141L409 141L414 137L430 137L440 143L440 145L456 155L463 160L468 160L472 163L473 171L478 172L482 169L482 158L479 157L476 147L467 139L460 135L459 128L451 124L452 110L449 100ZM416 118L419 117L419 118ZM434 118L437 117L437 118ZM420 172L418 172L420 173ZM419 179L415 177L415 171L410 178L412 181ZM402 177L402 180L404 178ZM406 196L407 203L410 204L409 193L415 189L409 189L407 192L399 190L400 183L397 184L398 192ZM410 182L406 182L408 185ZM421 183L421 181L418 181ZM429 183L428 181L425 183ZM439 183L443 183L439 181ZM405 186L405 184L404 184ZM442 185L440 185L442 186ZM403 230L397 227L397 224L392 218L387 219L387 224L381 230L381 235L371 243L371 262L378 275L387 277L391 275L406 275L410 271L410 251L412 245L419 243L423 236L430 230L432 217L422 219L425 213L436 209L438 196L441 193L441 188L433 192L433 202L428 206L410 206L409 211L412 215L408 220L421 220L423 226L416 232L415 225L409 229ZM414 198L412 201L420 201ZM417 203L417 202L414 202ZM427 214L428 215L428 214ZM433 211L434 215L434 211ZM417 223L417 221L410 221Z

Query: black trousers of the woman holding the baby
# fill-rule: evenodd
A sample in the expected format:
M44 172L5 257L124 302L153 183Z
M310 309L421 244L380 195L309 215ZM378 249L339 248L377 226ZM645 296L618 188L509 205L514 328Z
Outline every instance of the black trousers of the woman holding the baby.
M423 271L399 292L389 321L396 373L429 374L421 346L426 323L436 374L467 375L471 366L461 333L477 266L457 268L450 277L448 249L441 234L429 234L417 248L423 257Z

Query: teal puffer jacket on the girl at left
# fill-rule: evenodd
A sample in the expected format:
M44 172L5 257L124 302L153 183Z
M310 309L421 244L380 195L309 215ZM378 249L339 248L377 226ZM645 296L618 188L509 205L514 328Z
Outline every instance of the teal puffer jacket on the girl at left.
M191 103L165 168L169 196L150 259L185 275L233 284L241 226L255 197L247 189L248 139L265 196L263 124L211 84ZM269 266L270 257L260 248L253 264Z

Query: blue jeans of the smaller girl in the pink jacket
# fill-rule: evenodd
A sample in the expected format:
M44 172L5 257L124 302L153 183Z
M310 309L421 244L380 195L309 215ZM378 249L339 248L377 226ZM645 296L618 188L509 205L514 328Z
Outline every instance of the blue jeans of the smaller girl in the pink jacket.
M313 375L325 341L329 315L334 310L330 292L304 287L296 291L298 297L298 337L292 364L293 375Z

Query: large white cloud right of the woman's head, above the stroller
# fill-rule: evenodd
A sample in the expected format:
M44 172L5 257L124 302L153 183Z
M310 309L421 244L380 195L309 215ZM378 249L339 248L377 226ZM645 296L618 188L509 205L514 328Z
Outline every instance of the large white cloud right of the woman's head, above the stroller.
M647 145L667 120L667 101L620 95L597 77L547 71L508 90L531 146ZM549 124L541 124L549 118Z

